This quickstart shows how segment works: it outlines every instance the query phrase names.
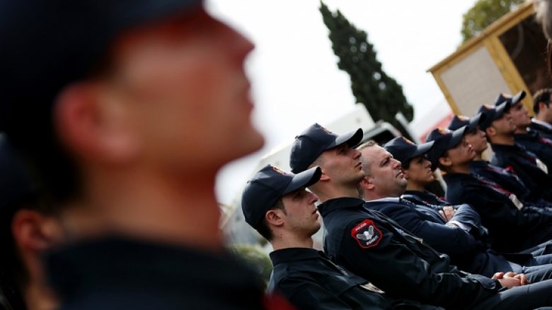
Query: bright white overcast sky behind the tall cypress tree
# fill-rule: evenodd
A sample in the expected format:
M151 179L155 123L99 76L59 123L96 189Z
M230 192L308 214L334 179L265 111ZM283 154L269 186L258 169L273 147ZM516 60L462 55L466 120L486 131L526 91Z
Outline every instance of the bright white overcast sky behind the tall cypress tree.
M403 85L415 119L444 105L427 69L461 42L461 21L475 0L326 0L330 10L368 33L384 71ZM253 121L265 148L219 174L217 196L232 203L260 157L318 122L326 124L355 104L349 76L336 65L318 0L207 0L207 9L255 43L247 71ZM224 152L224 150L221 150Z

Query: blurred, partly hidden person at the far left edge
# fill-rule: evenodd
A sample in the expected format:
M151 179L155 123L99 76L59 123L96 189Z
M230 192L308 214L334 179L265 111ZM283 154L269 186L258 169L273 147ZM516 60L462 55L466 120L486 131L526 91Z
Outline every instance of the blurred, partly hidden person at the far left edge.
M62 242L61 225L19 156L0 135L0 309L53 310L40 254Z

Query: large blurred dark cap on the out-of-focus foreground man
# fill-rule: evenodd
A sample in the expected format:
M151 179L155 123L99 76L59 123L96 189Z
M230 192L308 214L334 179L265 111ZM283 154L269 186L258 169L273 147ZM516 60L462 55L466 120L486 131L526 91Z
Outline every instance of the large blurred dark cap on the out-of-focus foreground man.
M125 30L201 6L202 0L0 1L0 130L32 131L50 118L59 91L93 73Z

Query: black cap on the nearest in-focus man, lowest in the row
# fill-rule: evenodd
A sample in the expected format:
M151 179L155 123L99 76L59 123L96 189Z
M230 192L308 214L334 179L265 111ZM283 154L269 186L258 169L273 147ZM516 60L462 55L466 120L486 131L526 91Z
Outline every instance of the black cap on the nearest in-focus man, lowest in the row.
M321 174L320 167L312 167L299 174L292 174L272 165L266 165L247 182L246 189L241 195L241 210L246 217L246 222L256 229L265 217L265 213L280 197L315 184Z

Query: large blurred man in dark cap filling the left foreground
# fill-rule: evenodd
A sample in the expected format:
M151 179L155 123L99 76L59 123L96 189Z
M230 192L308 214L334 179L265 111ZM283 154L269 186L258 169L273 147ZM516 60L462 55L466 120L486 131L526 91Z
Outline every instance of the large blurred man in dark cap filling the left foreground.
M251 42L200 0L2 1L0 42L0 129L64 209L61 309L285 309L224 250L214 195L263 145Z

